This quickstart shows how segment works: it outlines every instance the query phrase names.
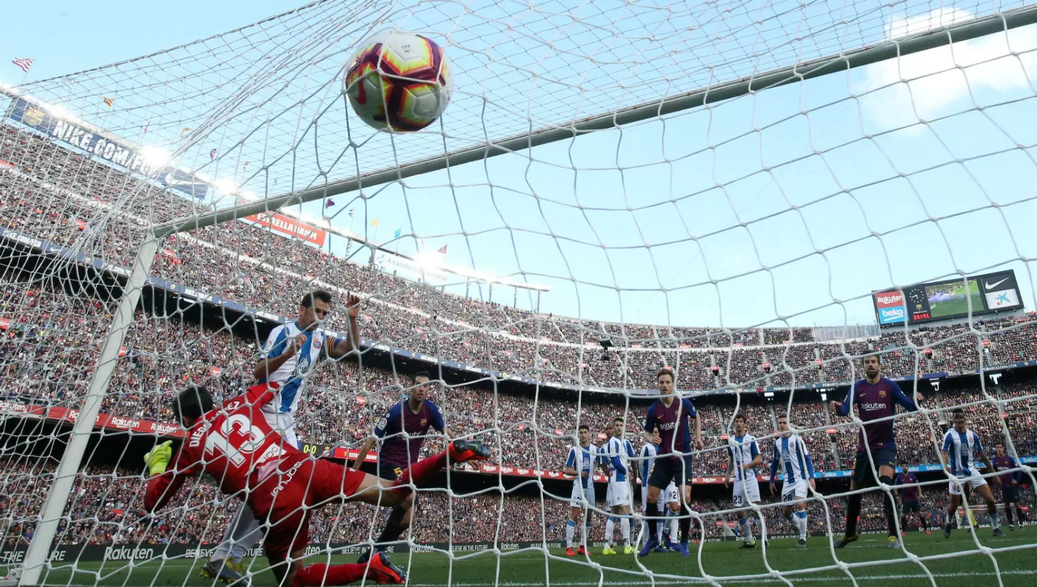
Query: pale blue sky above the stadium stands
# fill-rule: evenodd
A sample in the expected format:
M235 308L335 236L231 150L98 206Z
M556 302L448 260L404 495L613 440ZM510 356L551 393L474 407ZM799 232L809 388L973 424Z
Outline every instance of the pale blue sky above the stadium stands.
M82 7L43 1L31 14L0 23L0 48L7 56L4 62L36 59L28 79L32 82L187 43L295 7L276 1L222 4L186 0L173 10L123 1ZM593 13L577 10L588 25L579 30L538 30L542 14L536 11L510 14L483 3L473 8L485 21L444 17L435 32L449 34L458 65L456 92L444 116L451 141L478 136L483 124L504 128L524 116L533 118L535 126L558 105L571 106L569 114L588 115L608 100L617 106L637 101L624 95L620 82L669 94L681 84L698 87L697 80L708 71L703 64L714 66L717 76L737 71L733 33L716 42L685 39L685 45L699 45L681 53L676 63L657 67L657 47L676 42L664 39L678 34L684 23L662 22L652 12L622 18L610 11L621 9L619 4L595 3ZM878 38L902 35L972 16L968 7L930 10L928 5L897 5L868 21L870 33ZM674 21L682 18L677 14ZM506 59L480 60L496 55L497 42L522 47L521 39L505 43L493 36L503 38L505 33L491 25L504 20L514 30L525 27L550 39L554 49L533 45ZM592 38L594 26L610 20L612 38L628 45ZM397 14L392 24L432 26L428 20L415 21L421 19ZM707 18L694 25L707 33L713 26L720 32L737 28L736 21L717 24ZM794 30L795 18L787 26ZM39 33L41 28L47 34ZM363 32L354 27L342 37L356 42ZM642 34L660 40L638 40ZM337 197L332 222L367 230L379 241L400 228L404 236L392 246L401 252L415 253L421 237L425 251L447 245L450 264L546 285L552 291L541 297L540 309L565 316L730 327L779 325L779 317L788 317L793 325L873 323L866 297L872 290L1002 266L1015 269L1032 309L1033 267L1022 259L1037 257L1037 231L1032 228L1037 218L1037 31L1028 27L1008 36L1017 56L1010 55L1005 37L767 90L662 121L461 166L449 174L411 178L403 185L365 192L364 199ZM473 45L477 38L485 39L481 50ZM845 42L851 43L848 37ZM809 48L798 49L810 57ZM826 53L825 48L816 51ZM451 55L449 47L447 53ZM328 59L343 60L335 54ZM650 61L654 69L642 61ZM502 62L511 69L502 72ZM0 71L0 81L21 81L13 65ZM650 83L652 75L661 78L657 90ZM88 78L95 88L105 88L100 80L111 80L106 83L116 88L105 91L116 92L120 83L134 83L132 72L122 76ZM905 84L901 78L917 80ZM574 82L568 84L577 88L571 94L561 89L567 82ZM314 83L334 87L327 80ZM118 95L117 105L135 97ZM89 108L100 108L95 102ZM82 112L87 102L75 104L76 112L106 127L133 128L141 117L170 116L153 110L136 115L129 109L125 114ZM352 124L345 127L354 142L367 137L347 107L333 98L323 104L328 105L325 119L334 121L330 128ZM208 169L222 170L213 172L218 176L232 173L243 188L259 195L283 190L259 181L256 164L252 175L241 173L243 159L258 160L254 153L262 141L253 140L248 145L252 151L243 150L234 159L221 155L211 164L207 153L219 144L214 142L219 131L185 138L175 110L170 110L174 117L163 123L176 133L155 140L164 140L170 151L177 141L193 141L181 163L221 164ZM919 118L934 121L884 133ZM196 119L185 115L183 120ZM248 129L257 123L253 117L233 124ZM328 136L318 134L333 151L337 143L324 139ZM330 179L351 175L351 163L376 166L380 156L391 159L393 152L422 154L437 148L436 135L395 137L390 151L385 139L375 137L366 151L358 148L355 160L334 168ZM442 145L441 139L440 149ZM303 178L304 183L314 180ZM316 202L306 210L319 215L321 206ZM347 209L357 210L352 222ZM376 234L370 226L374 217ZM512 292L502 290L495 289L495 299L511 302ZM520 299L521 305L529 303L528 297Z

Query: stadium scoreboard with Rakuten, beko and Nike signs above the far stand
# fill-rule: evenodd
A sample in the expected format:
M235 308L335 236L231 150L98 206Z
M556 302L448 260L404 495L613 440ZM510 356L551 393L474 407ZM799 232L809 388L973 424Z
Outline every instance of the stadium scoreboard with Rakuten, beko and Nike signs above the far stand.
M984 273L971 277L918 284L903 289L874 292L879 326L919 324L1022 307L1015 272Z

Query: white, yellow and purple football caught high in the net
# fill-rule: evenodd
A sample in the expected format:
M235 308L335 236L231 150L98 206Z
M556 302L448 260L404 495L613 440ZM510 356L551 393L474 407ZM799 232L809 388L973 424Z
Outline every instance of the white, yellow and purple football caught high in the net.
M443 49L432 39L385 31L354 54L344 85L364 122L380 130L413 133L446 110L453 76Z

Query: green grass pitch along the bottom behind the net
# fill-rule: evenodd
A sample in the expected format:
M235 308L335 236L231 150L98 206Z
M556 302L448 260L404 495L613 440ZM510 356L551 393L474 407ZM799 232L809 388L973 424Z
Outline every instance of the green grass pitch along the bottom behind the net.
M1037 528L1016 530L1003 538L994 538L990 536L988 529L981 529L978 536L983 547L1008 550L992 553L991 559L989 555L977 552L972 534L958 530L951 539L945 539L940 531L930 536L910 533L905 538L905 546L918 557L951 555L925 561L932 581L941 587L998 585L999 571L1004 585L1033 585L1037 581ZM837 566L839 562L849 565L848 570L859 583L885 584L884 587L932 585L925 568L909 561L902 551L888 549L886 537L880 535L863 536L846 549L835 551L839 562L833 558L833 551L824 537L811 538L809 546L803 549L797 548L790 539L773 540L767 549L766 560L774 574L768 578L754 580L744 576L768 573L764 566L762 550L759 547L753 551L738 550L739 545L737 541L707 542L701 551L693 551L691 557L681 557L676 553L652 554L641 559L641 562L655 574L656 585L709 584L702 579L703 571L711 576L714 584L721 585L782 585L784 583L779 576L793 585L852 585L846 573ZM596 554L588 563L584 557L566 558L562 551L552 551L551 555L552 558L549 559L540 551L518 551L501 556L493 552L455 554L456 558L451 564L444 554L421 553L410 556L397 554L393 560L408 566L410 585L415 587L591 587L652 584L646 575L637 575L641 569L633 556ZM326 556L311 556L307 559L307 562L326 561ZM355 561L355 555L332 557L332 563ZM876 561L886 563L858 566ZM164 564L149 561L134 566L125 561L90 562L77 565L75 570L69 565L56 566L45 575L44 580L48 585L208 586L212 585L211 582L198 575L202 562L204 561L170 559ZM808 568L817 570L797 573ZM274 585L274 576L265 569L264 559L254 559L252 573L255 574L254 585Z

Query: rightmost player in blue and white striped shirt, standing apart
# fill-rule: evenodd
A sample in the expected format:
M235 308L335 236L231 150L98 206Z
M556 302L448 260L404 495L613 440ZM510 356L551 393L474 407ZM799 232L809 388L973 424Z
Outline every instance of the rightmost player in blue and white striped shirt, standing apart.
M969 430L965 425L965 411L955 408L951 412L954 428L944 434L944 446L940 449L940 458L944 464L944 469L951 477L950 501L947 504L947 519L944 521L944 537L951 537L951 519L961 504L961 486L969 483L976 495L986 502L986 512L990 516L990 528L993 528L994 536L1004 536L1001 530L1001 521L998 519L998 502L993 500L993 493L990 486L986 485L976 467L976 457L979 457L986 465L986 469L994 472L993 464L983 450L983 445L979 441L979 436ZM993 477L994 483L1001 483L1001 479ZM965 504L969 510L969 504Z

